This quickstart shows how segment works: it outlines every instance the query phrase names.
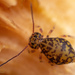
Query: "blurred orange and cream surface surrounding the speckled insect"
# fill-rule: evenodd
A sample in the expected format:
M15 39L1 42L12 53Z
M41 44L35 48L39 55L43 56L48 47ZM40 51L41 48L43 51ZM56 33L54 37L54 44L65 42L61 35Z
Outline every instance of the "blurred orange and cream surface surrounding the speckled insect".
M50 37L75 36L75 0L0 0L0 64L19 53L32 34L30 2L33 7L35 31L37 25L43 35L53 26ZM65 38L75 49L75 39ZM40 49L28 53L28 48L17 58L0 67L0 75L75 75L75 63L51 66L39 61Z

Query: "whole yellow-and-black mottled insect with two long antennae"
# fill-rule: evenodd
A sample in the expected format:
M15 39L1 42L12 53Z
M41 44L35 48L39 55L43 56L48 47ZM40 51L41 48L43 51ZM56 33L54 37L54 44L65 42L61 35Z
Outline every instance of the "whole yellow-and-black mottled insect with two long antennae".
M34 32L34 19L33 19L33 10L32 10L32 4L30 4L31 7L31 15L32 15L32 22L33 22L33 34L29 38L28 45L32 49L41 49L41 54L43 53L52 64L62 65L62 64L68 64L72 62L75 58L75 52L72 48L69 41L63 38L55 37L55 38L49 38L49 35L53 32L54 27L52 30L49 31L49 34L46 38L43 38L41 35L42 29L39 27L41 33ZM63 37L72 37L70 35L62 35ZM17 55L13 56L6 62L0 64L0 67L4 64L8 63L12 59L19 56L27 47L28 45L21 50ZM40 55L40 61L42 60L42 55Z

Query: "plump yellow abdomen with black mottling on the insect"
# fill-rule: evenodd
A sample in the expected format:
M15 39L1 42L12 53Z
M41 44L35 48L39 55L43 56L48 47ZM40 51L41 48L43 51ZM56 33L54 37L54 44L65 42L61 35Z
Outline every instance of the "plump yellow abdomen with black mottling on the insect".
M73 61L75 52L71 44L63 38L46 38L40 44L42 53L54 64L67 64Z

